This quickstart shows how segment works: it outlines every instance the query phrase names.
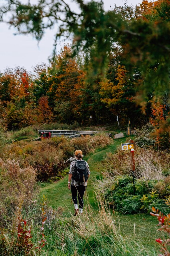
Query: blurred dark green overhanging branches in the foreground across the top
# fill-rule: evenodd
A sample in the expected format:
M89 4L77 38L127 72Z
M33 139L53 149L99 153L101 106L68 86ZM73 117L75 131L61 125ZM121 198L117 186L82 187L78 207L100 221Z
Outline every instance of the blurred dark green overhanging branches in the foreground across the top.
M40 1L23 5L20 1L7 0L2 6L1 20L7 20L19 33L30 33L40 40L46 28L58 21L57 37L74 35L72 55L83 49L86 66L91 77L104 74L108 56L116 51L123 56L124 65L133 79L138 74L143 105L148 93L157 97L169 93L169 3L163 1L156 8L133 12L124 8L104 11L102 2L77 0L79 12L71 11L63 1ZM140 9L140 8L139 8ZM11 17L9 13L13 13ZM10 17L10 18L8 18ZM161 42L161 43L160 43ZM56 44L55 44L56 45ZM144 80L144 82L143 82Z

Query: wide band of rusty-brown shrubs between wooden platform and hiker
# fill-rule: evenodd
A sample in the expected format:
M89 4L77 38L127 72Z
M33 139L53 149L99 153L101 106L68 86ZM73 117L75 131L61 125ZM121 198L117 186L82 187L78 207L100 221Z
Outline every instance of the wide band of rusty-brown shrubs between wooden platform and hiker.
M85 136L78 138L54 137L42 141L17 141L6 146L7 158L19 161L22 168L33 166L37 169L38 179L47 181L55 177L62 177L62 171L67 167L65 160L74 155L77 148L83 154L88 154L90 149L103 147L112 143L112 139L105 135L94 137Z

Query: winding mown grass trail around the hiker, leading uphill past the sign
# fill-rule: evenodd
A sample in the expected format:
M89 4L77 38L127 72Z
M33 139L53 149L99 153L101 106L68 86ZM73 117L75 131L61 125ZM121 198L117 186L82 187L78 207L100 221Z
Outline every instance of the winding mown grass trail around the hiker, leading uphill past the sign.
M102 172L102 165L101 161L106 156L106 153L112 152L114 153L117 146L121 143L125 142L126 138L121 138L116 141L114 141L114 144L108 146L102 151L98 151L92 156L90 156L88 159L88 164L90 167L90 178L88 180L88 186L87 186L87 194L90 204L95 207L94 202L94 180L99 179L101 172ZM64 207L64 212L68 212L67 207L72 210L73 206L71 205L71 191L68 190L68 175L66 175L62 180L58 181L57 183L46 183L45 187L41 187L40 189L40 195L44 194L47 196L49 205L53 208L58 207ZM86 198L85 198L86 200ZM67 207L66 207L67 206Z

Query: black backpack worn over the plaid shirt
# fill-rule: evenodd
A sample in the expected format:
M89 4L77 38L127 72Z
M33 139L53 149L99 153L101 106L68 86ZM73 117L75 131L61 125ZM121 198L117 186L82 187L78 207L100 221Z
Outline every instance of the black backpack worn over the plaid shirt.
M87 181L87 165L86 161L77 161L75 166L75 172L73 174L73 179L78 182L86 182Z

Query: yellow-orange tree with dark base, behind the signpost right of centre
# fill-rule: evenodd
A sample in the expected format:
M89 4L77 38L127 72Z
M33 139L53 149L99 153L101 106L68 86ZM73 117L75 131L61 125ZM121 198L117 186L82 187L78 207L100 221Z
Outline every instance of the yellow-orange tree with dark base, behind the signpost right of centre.
M101 101L106 104L114 116L119 116L119 121L123 125L127 125L128 118L133 125L141 125L147 121L147 116L141 113L140 106L135 102L137 92L135 83L138 79L137 71L136 76L131 79L122 64L121 57L112 56L106 78L100 82Z

